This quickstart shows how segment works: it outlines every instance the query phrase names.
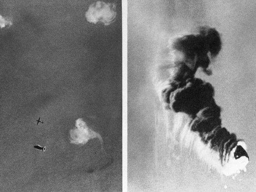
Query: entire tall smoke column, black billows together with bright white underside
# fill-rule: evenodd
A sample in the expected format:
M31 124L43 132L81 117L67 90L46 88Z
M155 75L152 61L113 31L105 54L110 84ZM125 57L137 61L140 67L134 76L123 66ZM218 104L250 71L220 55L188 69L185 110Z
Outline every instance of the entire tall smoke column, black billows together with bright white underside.
M246 144L222 127L212 85L195 78L198 68L211 75L208 66L220 50L220 35L208 26L173 37L170 63L158 66L156 88L164 110L174 112L171 145L194 151L208 167L230 176L246 171ZM167 81L160 80L164 73L169 73Z

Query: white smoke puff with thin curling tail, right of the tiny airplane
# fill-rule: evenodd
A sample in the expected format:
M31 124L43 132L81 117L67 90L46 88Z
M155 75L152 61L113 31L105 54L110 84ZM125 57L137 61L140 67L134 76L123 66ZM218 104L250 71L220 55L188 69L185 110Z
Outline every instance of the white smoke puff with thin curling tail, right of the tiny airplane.
M103 147L103 140L101 135L95 131L93 131L87 124L79 118L76 120L75 128L69 131L69 139L70 143L76 145L84 145L90 139L98 138L101 143L101 148Z

